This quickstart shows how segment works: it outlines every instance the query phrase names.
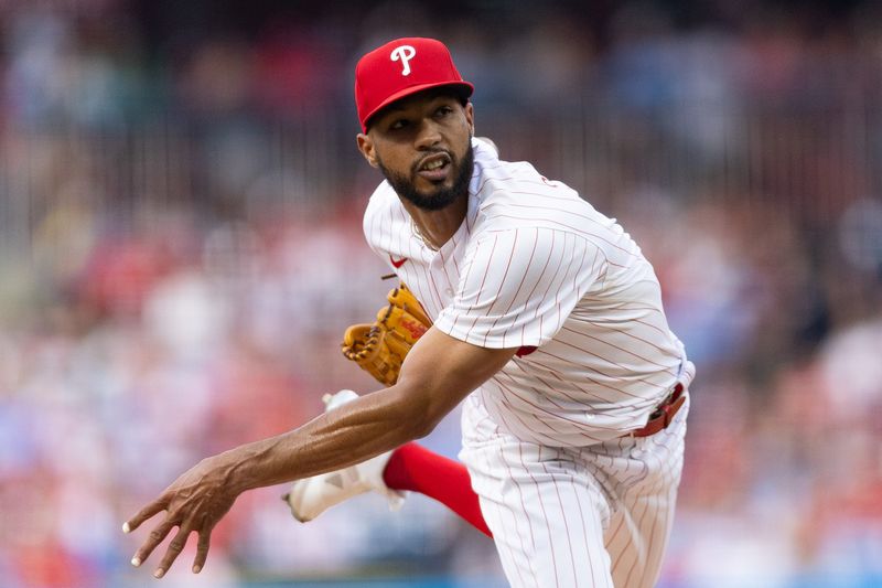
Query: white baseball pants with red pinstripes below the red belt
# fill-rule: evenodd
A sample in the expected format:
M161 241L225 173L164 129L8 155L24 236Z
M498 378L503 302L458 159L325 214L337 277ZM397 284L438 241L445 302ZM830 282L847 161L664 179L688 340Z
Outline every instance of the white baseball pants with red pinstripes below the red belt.
M688 393L687 393L688 396ZM524 442L469 397L472 487L516 588L650 588L674 520L689 398L668 428L582 448Z

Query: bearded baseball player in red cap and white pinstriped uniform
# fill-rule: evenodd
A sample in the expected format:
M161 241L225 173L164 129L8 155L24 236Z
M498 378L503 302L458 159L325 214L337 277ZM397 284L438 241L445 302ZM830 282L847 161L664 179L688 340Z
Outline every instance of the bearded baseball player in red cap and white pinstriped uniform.
M176 526L154 576L193 532L197 573L212 528L251 488L313 478L289 496L304 518L338 498L319 483L329 475L394 492L390 468L435 466L408 441L464 400L467 477L453 485L471 484L513 586L654 585L693 366L637 245L564 184L473 138L472 92L439 41L399 39L358 62L357 145L385 177L365 233L407 288L347 332L344 352L386 387L334 397L310 423L183 473L123 525L165 511L133 565Z

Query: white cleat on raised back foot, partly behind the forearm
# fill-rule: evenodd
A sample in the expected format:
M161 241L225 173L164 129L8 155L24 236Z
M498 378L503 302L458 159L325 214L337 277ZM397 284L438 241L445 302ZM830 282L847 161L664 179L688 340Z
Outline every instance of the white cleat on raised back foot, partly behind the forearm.
M357 397L358 395L351 389L325 394L322 398L325 413ZM404 494L389 489L383 481L383 470L386 469L391 453L387 451L342 470L298 480L282 500L288 503L294 518L301 523L312 521L334 504L372 490L389 500L390 510L398 510L404 503Z

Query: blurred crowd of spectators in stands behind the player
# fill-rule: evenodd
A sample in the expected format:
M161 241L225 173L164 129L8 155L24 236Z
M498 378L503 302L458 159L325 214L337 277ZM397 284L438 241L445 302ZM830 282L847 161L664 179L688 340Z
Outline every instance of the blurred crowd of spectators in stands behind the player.
M882 7L0 1L0 586L153 586L121 523L342 387L391 284L353 66L445 41L478 135L635 236L698 365L660 586L882 584ZM456 415L427 443L459 448ZM174 587L495 587L423 496L244 495ZM373 584L369 584L373 582Z

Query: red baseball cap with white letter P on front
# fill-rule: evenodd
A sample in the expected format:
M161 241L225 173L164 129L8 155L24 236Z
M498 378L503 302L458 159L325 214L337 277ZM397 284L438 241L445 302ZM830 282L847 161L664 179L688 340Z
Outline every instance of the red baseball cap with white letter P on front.
M452 86L467 98L465 82L444 44L434 39L396 39L365 54L355 66L355 105L362 130L379 109L423 89Z

